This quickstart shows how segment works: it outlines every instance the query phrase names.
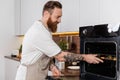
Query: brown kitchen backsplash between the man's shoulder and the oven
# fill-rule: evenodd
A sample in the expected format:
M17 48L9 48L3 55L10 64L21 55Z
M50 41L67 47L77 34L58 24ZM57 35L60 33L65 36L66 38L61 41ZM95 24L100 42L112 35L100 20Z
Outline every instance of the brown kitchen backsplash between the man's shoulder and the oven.
M80 38L79 36L53 36L53 40L63 50L67 50L73 53L80 53ZM60 44L61 43L61 44Z

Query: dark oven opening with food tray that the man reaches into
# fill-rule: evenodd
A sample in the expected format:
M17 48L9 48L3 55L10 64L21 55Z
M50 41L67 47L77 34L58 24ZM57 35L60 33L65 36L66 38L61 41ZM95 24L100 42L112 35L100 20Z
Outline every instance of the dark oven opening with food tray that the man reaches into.
M116 77L116 44L114 42L86 42L85 54L98 54L100 64L85 63L85 71L106 77Z

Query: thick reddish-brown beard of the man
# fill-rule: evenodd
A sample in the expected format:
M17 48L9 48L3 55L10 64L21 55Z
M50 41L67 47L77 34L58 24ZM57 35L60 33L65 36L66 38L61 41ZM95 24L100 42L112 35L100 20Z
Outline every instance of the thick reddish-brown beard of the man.
M47 21L48 28L53 33L57 31L57 24L58 24L58 22L53 22L51 20L51 17Z

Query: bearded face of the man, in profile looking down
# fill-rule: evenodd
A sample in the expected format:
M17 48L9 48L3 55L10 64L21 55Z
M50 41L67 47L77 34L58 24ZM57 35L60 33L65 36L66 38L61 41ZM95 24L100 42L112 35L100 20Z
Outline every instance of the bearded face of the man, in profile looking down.
M54 8L52 14L47 21L48 28L52 32L57 31L57 24L61 22L62 10L59 8Z

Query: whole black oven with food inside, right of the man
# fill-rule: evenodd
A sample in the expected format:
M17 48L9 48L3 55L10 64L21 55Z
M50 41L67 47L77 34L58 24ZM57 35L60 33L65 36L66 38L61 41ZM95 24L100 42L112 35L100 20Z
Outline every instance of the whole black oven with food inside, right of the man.
M80 80L120 80L120 32L108 24L80 27L80 53L97 54L104 63L80 62Z

